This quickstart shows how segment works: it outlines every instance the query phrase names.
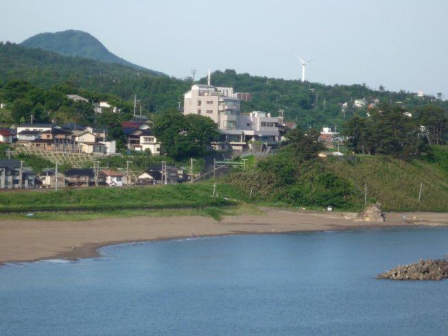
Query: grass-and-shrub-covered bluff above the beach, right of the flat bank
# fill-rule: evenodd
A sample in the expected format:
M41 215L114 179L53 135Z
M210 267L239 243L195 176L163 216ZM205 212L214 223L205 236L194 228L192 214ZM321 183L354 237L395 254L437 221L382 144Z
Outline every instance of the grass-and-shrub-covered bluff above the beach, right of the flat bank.
M228 182L241 195L251 193L252 200L269 204L361 211L367 189L367 203L379 202L384 211L443 212L448 211L447 163L448 149L440 146L432 160L412 161L344 156L298 162L277 154L250 171L235 172Z

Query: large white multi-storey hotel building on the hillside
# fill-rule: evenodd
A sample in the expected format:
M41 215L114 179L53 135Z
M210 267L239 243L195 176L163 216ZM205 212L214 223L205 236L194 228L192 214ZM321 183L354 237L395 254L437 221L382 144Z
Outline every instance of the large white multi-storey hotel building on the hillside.
M279 118L268 112L241 113L238 95L233 88L194 84L184 95L184 114L207 116L217 123L216 149L242 150L251 141L279 141Z

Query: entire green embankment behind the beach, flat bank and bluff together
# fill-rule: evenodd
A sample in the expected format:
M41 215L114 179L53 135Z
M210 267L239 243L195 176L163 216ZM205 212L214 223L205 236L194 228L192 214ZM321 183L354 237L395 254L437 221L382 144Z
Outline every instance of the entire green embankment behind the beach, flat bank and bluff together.
M344 156L292 165L284 156L269 158L246 171L235 169L216 184L154 187L97 187L36 191L3 191L0 214L87 211L117 215L196 213L215 219L235 205L255 204L361 211L367 202L384 211L448 212L448 147L432 160L410 162L390 156ZM367 188L366 188L367 187ZM229 207L233 210L229 210ZM191 210L193 212L191 212ZM198 212L199 211L199 212Z

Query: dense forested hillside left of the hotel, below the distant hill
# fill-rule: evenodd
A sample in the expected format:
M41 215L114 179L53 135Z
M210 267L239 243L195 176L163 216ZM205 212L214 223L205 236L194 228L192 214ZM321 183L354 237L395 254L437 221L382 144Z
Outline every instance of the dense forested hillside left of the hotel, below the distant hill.
M39 88L66 86L80 91L95 93L86 97L93 102L106 95L118 97L116 103L139 100L142 114L166 108L175 108L183 101L191 82L154 75L126 67L90 60L87 58L62 56L54 52L0 42L0 87L12 80L25 80ZM82 94L85 97L85 94ZM1 97L0 97L1 100Z

